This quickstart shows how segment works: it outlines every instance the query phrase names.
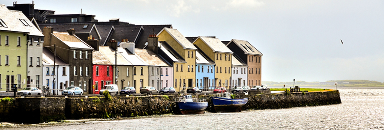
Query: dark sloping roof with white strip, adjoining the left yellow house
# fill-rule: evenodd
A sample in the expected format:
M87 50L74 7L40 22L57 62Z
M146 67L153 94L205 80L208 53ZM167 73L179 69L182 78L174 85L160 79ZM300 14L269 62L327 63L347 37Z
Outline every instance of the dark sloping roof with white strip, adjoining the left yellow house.
M186 62L172 47L168 45L165 41L159 41L160 50L172 60L172 62ZM163 56L164 57L164 56Z

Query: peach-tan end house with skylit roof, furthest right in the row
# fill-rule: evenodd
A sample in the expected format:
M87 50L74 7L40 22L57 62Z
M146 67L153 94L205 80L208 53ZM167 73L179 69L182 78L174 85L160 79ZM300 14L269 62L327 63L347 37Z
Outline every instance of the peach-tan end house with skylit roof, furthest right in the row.
M247 64L247 85L261 85L261 56L263 54L245 40L232 39L226 46L238 56L239 60Z

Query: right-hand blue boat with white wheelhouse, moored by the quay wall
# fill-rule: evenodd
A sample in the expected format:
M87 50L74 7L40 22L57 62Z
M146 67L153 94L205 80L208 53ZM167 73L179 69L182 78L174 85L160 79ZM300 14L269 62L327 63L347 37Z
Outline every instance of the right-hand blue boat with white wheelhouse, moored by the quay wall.
M231 99L230 93L218 93L211 100L215 112L241 112L241 107L248 102L248 98Z

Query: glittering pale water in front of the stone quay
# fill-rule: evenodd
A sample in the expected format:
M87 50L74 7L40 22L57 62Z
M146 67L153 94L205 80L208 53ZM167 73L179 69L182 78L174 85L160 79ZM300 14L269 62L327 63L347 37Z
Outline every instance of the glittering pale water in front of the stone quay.
M384 129L384 89L339 89L342 104L241 113L86 122L22 130L346 130Z

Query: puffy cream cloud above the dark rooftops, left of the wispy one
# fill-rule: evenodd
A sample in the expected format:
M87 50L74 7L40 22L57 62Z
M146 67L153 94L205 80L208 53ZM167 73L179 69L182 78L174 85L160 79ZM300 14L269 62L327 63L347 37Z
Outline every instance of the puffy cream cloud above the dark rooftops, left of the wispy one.
M168 12L171 16L179 17L185 12L200 12L199 8L192 8L191 5L186 5L184 0L178 0L176 4L171 5L171 8L168 8Z

